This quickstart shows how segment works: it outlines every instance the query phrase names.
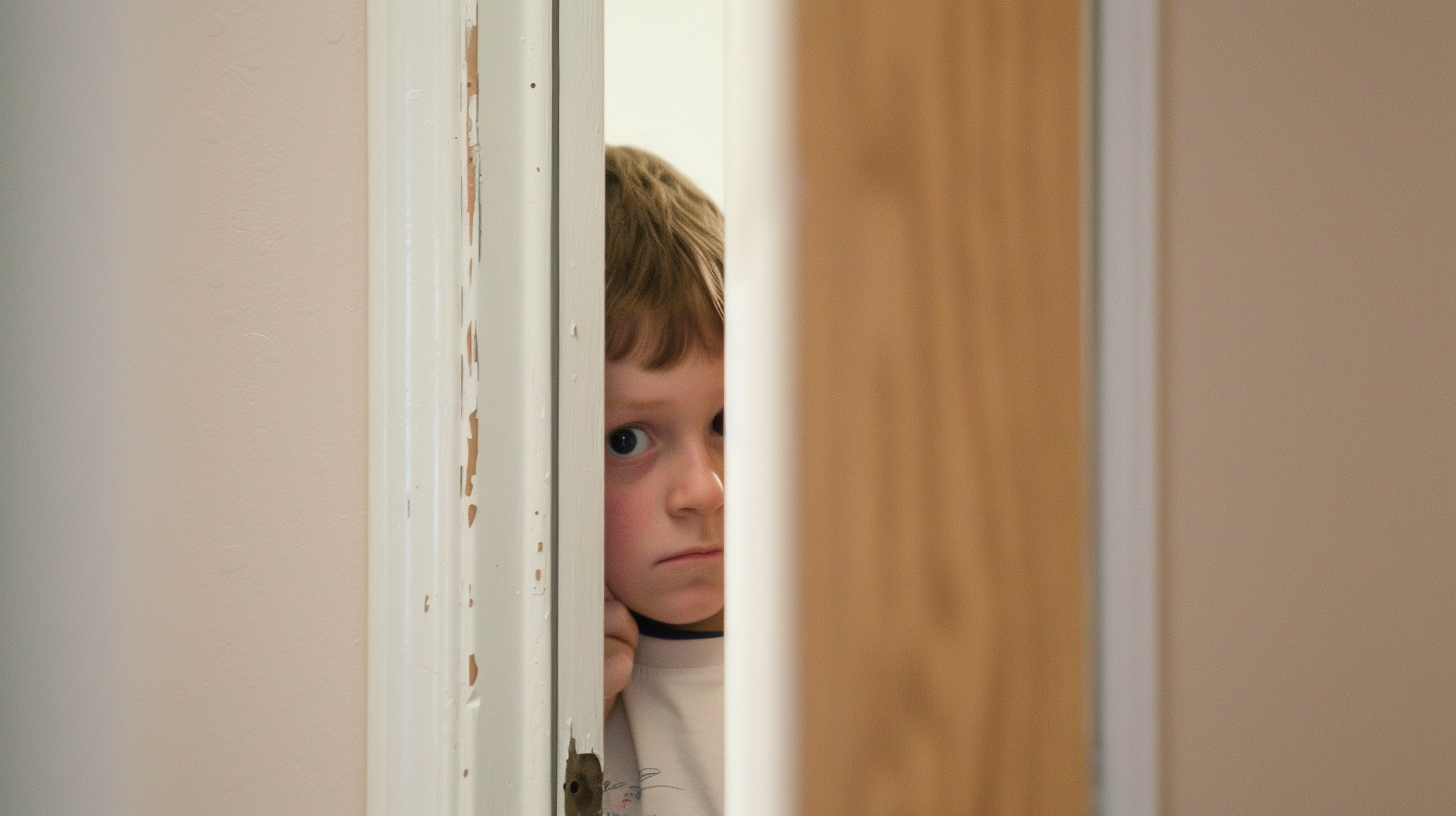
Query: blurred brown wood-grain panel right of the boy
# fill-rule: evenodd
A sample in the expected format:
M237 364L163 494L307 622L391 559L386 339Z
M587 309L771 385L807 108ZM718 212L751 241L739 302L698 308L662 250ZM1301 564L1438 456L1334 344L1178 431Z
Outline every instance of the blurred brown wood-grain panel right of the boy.
M1085 813L1082 3L796 31L804 812Z

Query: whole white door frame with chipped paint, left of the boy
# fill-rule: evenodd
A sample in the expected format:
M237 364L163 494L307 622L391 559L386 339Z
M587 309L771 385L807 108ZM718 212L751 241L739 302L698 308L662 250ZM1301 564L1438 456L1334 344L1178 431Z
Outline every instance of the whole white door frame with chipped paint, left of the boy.
M601 753L601 3L368 26L368 813L561 815Z

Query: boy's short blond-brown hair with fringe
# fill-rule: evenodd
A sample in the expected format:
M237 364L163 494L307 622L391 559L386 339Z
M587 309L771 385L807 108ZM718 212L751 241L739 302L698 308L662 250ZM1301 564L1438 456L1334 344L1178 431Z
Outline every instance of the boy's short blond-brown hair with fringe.
M607 147L607 360L667 369L724 348L724 219L660 156Z

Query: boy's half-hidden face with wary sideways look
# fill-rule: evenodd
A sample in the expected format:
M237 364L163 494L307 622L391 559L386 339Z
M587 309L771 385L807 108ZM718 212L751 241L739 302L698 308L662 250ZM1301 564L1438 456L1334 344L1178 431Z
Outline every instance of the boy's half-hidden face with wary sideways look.
M722 357L607 363L607 589L664 624L722 628Z

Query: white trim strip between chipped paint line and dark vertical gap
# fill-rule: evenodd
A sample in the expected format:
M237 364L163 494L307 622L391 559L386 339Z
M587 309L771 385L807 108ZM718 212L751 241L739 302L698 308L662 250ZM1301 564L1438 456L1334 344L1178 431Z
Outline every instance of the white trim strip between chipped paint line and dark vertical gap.
M480 0L479 19L482 446L479 549L466 587L479 670L469 704L470 781L483 812L545 816L556 791L552 3Z

